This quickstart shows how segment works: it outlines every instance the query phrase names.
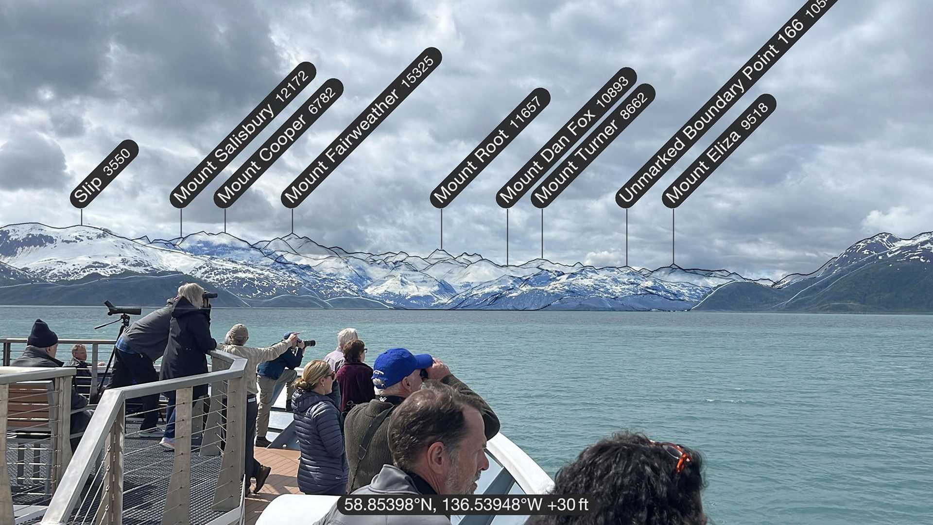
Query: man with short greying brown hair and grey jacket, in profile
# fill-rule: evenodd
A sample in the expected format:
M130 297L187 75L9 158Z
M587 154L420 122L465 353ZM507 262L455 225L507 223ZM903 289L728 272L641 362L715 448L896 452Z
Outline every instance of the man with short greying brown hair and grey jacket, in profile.
M386 464L355 495L472 494L489 468L486 435L478 397L438 381L398 405L389 423L393 464ZM345 516L338 505L315 525L441 525L447 516ZM607 522L609 523L609 522ZM614 523L614 522L613 522Z

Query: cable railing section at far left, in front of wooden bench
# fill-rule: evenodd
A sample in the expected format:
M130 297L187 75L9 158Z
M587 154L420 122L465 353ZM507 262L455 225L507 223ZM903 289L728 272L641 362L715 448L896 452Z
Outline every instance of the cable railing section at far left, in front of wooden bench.
M0 523L41 516L61 484L71 459L74 375L74 368L0 366Z

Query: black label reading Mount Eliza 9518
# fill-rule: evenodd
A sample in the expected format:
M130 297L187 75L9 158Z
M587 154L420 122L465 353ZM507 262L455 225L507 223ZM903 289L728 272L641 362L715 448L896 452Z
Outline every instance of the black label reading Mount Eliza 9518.
M703 184L716 168L726 162L733 151L739 148L749 135L753 134L777 108L777 101L768 93L755 99L745 108L742 115L732 121L713 144L689 165L686 171L677 177L674 184L664 191L661 201L664 206L675 208L687 200L691 193Z

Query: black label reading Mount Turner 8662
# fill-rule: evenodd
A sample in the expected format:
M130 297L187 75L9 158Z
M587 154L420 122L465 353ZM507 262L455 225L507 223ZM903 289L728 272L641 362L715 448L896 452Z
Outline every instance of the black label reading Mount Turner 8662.
M567 155L550 175L531 193L531 202L539 208L545 208L554 202L561 192L583 173L600 153L606 151L632 121L654 100L654 88L651 84L641 84L623 100L616 111L599 123L586 139Z

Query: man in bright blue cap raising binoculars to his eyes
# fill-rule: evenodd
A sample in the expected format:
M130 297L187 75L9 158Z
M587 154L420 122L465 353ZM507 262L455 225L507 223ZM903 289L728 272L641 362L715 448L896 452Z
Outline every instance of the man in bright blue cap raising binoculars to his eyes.
M499 419L479 394L451 374L451 369L429 354L413 355L405 348L389 348L379 354L372 365L372 384L376 399L357 404L347 414L344 423L347 462L350 475L347 492L369 485L383 465L392 464L389 450L389 417L393 410L413 392L421 389L423 378L437 380L453 387L481 407L486 439L499 433Z

